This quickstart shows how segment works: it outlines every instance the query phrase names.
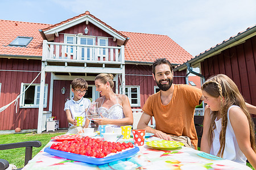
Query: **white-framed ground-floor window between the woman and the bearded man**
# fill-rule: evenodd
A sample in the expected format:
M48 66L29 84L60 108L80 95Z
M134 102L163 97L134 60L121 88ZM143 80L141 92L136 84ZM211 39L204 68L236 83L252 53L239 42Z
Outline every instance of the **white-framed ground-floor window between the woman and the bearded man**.
M122 87L119 88L122 91ZM128 96L131 107L141 107L141 91L139 86L125 86L125 95Z

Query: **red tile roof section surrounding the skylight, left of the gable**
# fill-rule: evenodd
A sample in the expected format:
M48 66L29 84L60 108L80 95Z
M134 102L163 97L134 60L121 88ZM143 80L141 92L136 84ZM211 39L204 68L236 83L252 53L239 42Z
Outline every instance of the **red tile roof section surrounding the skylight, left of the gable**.
M0 54L42 56L43 38L38 30L49 25L0 20ZM8 46L18 36L33 37L33 39L26 47Z

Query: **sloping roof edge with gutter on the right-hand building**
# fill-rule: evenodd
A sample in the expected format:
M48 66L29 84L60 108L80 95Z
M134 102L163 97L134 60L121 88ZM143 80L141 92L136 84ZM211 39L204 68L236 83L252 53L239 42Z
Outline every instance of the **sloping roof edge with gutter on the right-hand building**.
M250 29L247 29L245 32L242 32L240 33L239 35L237 36L234 36L232 39L229 39L228 41L225 41L223 42L222 44L220 45L217 45L216 47L208 50L207 52L203 53L203 54L200 54L199 56L195 57L195 58L192 58L191 60L183 63L182 65L180 66L177 66L174 68L174 71L181 71L181 70L184 70L186 69L187 65L186 63L189 63L190 65L193 64L195 65L197 62L200 62L199 60L203 60L203 59L206 59L206 58L209 58L209 57L212 57L214 54L213 53L216 53L221 50L222 48L225 48L226 46L229 46L231 44L233 44L234 42L237 42L239 40L242 40L243 38L245 38L246 36L249 36L251 34L255 33L256 35L256 25ZM254 36L254 35L251 35L251 37ZM249 37L250 38L250 37ZM249 39L247 38L247 39ZM246 39L245 39L246 40ZM221 52L221 51L219 51ZM212 55L211 55L212 54ZM215 54L215 55L216 55Z

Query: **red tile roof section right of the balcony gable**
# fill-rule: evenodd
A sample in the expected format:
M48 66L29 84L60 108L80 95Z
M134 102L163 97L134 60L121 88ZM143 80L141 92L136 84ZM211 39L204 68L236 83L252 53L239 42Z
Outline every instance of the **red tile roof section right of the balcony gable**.
M183 63L193 58L166 35L121 32L130 38L125 46L126 61L154 62L165 57L171 63Z

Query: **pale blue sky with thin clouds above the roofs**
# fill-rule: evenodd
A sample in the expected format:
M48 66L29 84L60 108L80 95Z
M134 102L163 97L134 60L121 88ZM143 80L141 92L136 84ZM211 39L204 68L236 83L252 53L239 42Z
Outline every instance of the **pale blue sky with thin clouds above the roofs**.
M0 19L56 24L90 11L118 31L167 35L196 56L256 24L255 0L1 0Z

